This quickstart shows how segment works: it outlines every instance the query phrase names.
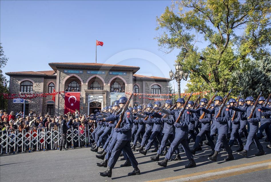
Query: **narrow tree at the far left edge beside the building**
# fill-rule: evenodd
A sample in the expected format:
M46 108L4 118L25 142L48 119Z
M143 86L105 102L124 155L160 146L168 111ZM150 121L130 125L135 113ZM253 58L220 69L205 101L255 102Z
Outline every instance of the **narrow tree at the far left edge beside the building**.
M0 43L0 68L1 68L0 69L0 93L9 92L9 88L7 87L8 81L2 72L2 69L6 66L8 60L9 58L5 56L3 47L1 46L1 43ZM4 86L4 81L5 81L5 86ZM1 109L7 109L7 99L4 99L3 95L0 95L0 106L1 106Z

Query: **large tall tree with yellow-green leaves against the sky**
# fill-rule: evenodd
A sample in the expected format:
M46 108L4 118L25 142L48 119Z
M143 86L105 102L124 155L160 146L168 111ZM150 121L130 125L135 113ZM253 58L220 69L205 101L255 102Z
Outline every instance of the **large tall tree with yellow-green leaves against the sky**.
M174 2L157 17L156 37L164 52L180 50L176 62L201 77L213 92L232 87L232 74L250 68L251 60L270 55L271 1L186 0ZM199 43L206 44L200 50ZM243 71L243 70L240 70Z

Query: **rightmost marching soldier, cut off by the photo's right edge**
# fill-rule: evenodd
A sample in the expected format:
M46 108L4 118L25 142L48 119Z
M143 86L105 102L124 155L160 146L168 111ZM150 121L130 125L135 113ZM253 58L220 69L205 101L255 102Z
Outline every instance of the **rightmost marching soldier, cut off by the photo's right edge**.
M267 135L268 142L271 143L271 134L269 126L271 124L271 111L270 111L270 105L266 105L266 107L263 106L264 102L267 102L264 97L259 98L259 107L261 108L261 126L257 133L257 138L262 139L262 132L265 130L265 133Z

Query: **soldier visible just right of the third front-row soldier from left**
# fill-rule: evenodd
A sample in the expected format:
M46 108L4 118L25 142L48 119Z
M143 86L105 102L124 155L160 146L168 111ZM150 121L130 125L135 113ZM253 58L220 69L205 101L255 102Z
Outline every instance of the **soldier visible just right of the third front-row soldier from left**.
M232 110L232 107L235 106L236 104L236 100L234 98L231 98L229 100L229 103L230 103L230 111L233 111ZM239 107L239 106L238 106ZM237 152L240 152L243 150L243 141L241 140L240 138L240 135L239 135L239 132L238 130L240 129L240 119L242 117L242 112L237 112L235 114L235 118L233 118L233 115L234 113L237 112L237 111L233 111L232 114L231 114L231 118L230 118L230 122L232 124L232 132L231 132L231 135L230 135L230 141L229 141L229 146L232 147L232 145L234 144L234 141L237 140L238 142L238 145L240 146L239 149L237 149L236 151ZM233 118L233 120L232 120Z

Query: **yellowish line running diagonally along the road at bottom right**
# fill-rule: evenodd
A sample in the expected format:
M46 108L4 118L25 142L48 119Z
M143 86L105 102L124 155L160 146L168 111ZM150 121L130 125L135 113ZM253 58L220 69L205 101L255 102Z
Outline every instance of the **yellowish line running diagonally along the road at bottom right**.
M229 170L229 169L235 169L235 168L239 168L239 167L246 167L246 166L257 165L257 164L268 163L268 162L271 162L271 160L268 159L268 160L264 160L264 161L257 161L257 162L252 162L252 163L236 165L236 166L229 166L229 167L223 167L223 168L219 168L219 169L212 169L212 170L202 171L202 172L198 172L198 173L179 175L179 176L168 177L168 178L163 178L163 179L155 179L155 180L151 180L151 181L148 181L148 182L171 181L171 180L174 180L174 179L198 176L198 175L203 175L203 174L206 174L206 173L215 173L215 172L218 172L218 171L225 171L225 170Z

